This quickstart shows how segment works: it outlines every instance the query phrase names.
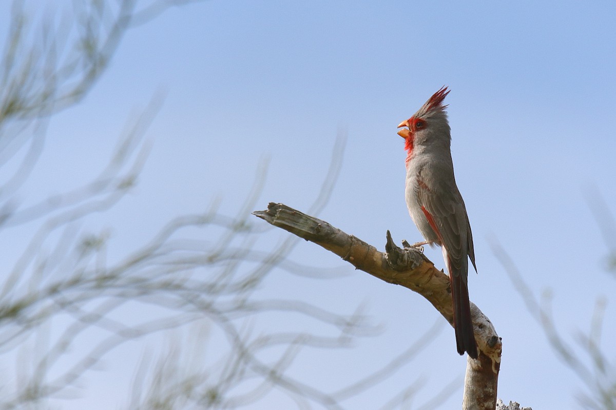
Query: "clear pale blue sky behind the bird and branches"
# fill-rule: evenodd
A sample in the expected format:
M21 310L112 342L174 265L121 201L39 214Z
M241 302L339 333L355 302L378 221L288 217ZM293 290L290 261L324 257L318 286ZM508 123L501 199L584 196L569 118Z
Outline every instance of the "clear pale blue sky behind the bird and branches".
M269 172L258 209L274 201L307 210L339 130L347 134L341 175L319 217L381 249L387 229L397 242L415 242L421 238L405 206L396 125L448 85L456 180L479 270L469 280L471 300L503 337L498 396L537 409L575 408L580 380L552 352L491 245L508 251L536 296L551 291L565 335L587 331L596 298L606 296L603 341L614 341L616 282L604 269L609 247L589 192L615 212L615 15L608 1L207 1L174 8L132 30L87 98L52 119L22 199L92 178L127 119L161 93L139 186L92 221L113 226L112 251L215 197L233 214L264 158ZM0 27L5 23L1 17ZM439 250L426 254L442 266ZM365 303L384 328L330 354L333 368L311 365L314 352L301 356L292 370L308 380L323 373L352 379L391 360L439 320L418 295L356 272L312 243L299 244L293 256L348 275L304 283L279 272L264 295L289 294L340 312ZM103 385L115 380L110 361L109 375L97 376ZM453 330L443 328L388 382L399 385L381 386L378 395L422 377L418 406L463 376L465 364ZM86 392L76 408L97 408L97 394L104 397ZM461 384L442 408L460 400Z

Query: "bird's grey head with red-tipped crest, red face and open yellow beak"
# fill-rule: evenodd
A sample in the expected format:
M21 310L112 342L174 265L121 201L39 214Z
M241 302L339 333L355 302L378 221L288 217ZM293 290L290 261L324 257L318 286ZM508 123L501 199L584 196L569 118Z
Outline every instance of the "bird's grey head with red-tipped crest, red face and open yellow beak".
M398 125L398 128L402 128L398 135L405 139L405 149L409 156L416 145L428 146L440 141L449 143L451 134L445 112L447 105L443 104L448 93L447 87L442 87L412 117Z

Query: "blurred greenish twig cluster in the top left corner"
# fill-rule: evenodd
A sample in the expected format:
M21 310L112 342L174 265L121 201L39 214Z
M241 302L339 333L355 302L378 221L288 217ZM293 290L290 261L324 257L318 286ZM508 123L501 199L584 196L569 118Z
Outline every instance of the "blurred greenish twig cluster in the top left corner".
M54 21L44 16L42 32L35 35L28 31L24 2L14 1L2 55L0 125L9 119L49 116L80 101L130 28L190 2L197 0L154 1L137 9L138 0L74 1L74 18L64 15Z

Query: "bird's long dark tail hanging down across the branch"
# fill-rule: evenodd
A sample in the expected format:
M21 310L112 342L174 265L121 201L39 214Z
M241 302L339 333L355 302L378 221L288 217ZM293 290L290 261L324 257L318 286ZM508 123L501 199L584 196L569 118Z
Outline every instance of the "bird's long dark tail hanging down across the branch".
M449 273L453 298L453 328L456 332L456 345L461 355L468 352L474 359L477 358L477 342L472 329L471 302L468 298L468 284L462 277L463 272Z

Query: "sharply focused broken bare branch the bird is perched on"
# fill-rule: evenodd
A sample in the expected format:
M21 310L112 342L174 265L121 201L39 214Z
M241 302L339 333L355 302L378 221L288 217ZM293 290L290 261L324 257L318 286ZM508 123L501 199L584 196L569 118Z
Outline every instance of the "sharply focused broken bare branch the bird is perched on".
M253 215L314 242L340 256L357 269L388 283L413 290L428 301L453 326L449 277L434 267L416 248L399 248L387 231L386 252L379 252L356 237L283 203L270 202L267 210ZM471 316L479 357L468 357L464 380L463 410L494 409L500 369L501 339L492 322L471 302ZM452 353L455 353L452 346Z

